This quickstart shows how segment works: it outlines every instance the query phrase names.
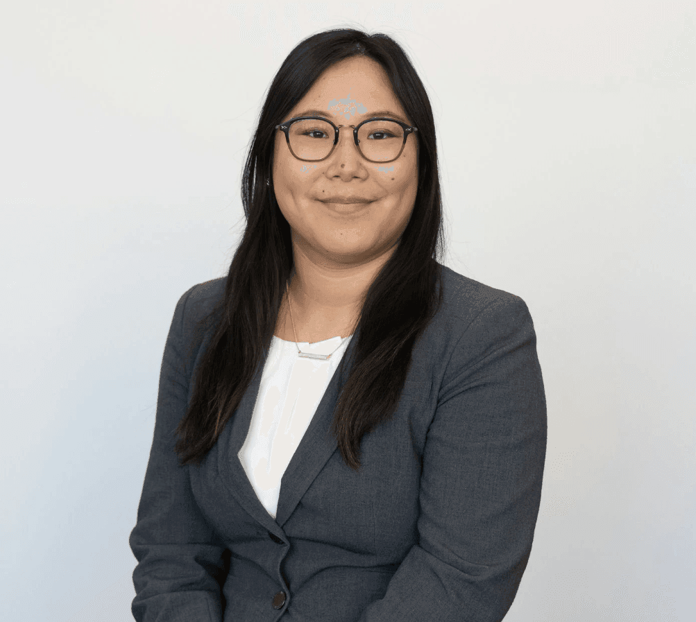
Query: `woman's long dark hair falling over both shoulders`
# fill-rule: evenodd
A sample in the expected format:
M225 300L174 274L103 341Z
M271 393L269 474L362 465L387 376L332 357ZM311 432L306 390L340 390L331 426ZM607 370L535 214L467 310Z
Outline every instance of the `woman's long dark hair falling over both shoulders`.
M294 267L290 225L271 186L276 125L324 70L351 56L377 61L418 133L418 191L397 249L363 296L353 366L334 411L332 431L345 463L358 471L365 433L390 420L416 339L443 300L443 214L435 124L425 88L388 35L334 29L312 35L285 58L269 88L242 180L246 230L230 264L225 295L201 322L217 328L200 361L187 412L176 432L180 465L200 464L234 415L267 353ZM409 137L411 140L411 137ZM345 357L344 357L345 358ZM341 365L344 364L341 361Z

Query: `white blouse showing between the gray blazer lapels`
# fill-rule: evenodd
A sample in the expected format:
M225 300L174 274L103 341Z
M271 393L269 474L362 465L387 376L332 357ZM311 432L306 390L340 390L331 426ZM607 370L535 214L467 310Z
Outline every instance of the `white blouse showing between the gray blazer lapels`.
M261 376L251 424L239 449L239 462L268 513L276 518L280 478L300 444L333 373L353 335L313 344L299 342L303 352L331 354L328 360L299 358L295 342L273 336Z

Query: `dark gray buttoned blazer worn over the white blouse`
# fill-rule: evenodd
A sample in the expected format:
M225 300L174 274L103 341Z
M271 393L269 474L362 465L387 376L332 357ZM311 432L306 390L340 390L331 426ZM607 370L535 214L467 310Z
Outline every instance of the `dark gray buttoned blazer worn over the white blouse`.
M393 420L363 437L359 473L330 433L338 367L281 479L276 519L242 447L263 370L200 466L174 430L225 278L179 299L129 543L139 622L494 622L532 550L546 397L527 305L443 266L441 310L413 346ZM358 335L345 352L349 360ZM343 372L343 373L341 373Z

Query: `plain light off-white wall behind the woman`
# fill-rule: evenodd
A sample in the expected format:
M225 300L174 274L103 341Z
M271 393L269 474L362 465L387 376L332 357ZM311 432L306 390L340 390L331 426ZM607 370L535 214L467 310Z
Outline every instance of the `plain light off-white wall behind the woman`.
M505 621L693 620L695 14L641 0L3 8L0 619L132 620L128 536L175 304L226 274L280 63L348 26L392 35L425 83L446 264L521 296L535 321L548 451Z

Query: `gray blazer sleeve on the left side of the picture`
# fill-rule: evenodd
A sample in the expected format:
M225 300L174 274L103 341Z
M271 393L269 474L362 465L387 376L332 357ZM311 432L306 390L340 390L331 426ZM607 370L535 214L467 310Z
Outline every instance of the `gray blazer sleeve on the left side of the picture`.
M195 287L195 286L194 286ZM137 622L220 622L225 545L200 513L189 467L174 451L175 429L188 400L191 360L184 357L184 310L178 301L159 373L148 468L129 544L138 564L131 610ZM195 356L195 351L193 353Z

